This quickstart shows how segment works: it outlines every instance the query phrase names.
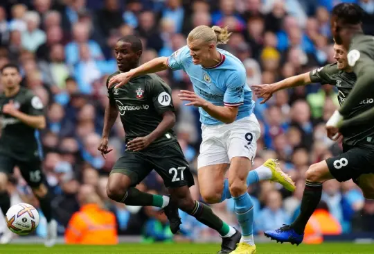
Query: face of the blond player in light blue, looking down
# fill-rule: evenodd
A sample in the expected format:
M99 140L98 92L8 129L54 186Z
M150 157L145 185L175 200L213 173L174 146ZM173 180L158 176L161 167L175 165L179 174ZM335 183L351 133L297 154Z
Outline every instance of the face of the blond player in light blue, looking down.
M194 40L187 42L190 49L190 56L193 58L194 65L204 65L204 62L211 58L214 45L203 42L202 40Z

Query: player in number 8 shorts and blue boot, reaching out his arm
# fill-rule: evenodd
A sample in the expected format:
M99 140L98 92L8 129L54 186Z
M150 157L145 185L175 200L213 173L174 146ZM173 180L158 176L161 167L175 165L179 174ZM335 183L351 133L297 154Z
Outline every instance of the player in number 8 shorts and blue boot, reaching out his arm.
M267 101L271 94L287 87L307 85L308 83L324 83L337 86L339 90L339 103L342 104L346 97L353 90L356 83L356 75L348 65L346 49L343 45L334 45L335 59L337 63L326 65L315 69L309 73L301 74L291 78L286 78L271 85L254 85L255 94ZM368 108L373 108L373 103L357 103L350 111L348 117L353 117L359 112L365 112ZM363 183L365 178L373 179L374 156L373 144L367 142L366 137L373 133L367 131L371 126L367 124L356 129L342 130L343 153L334 158L328 158L322 162L312 164L305 176L305 190L301 201L301 211L299 217L290 225L283 226L277 230L265 232L267 237L275 239L277 242L290 242L301 244L303 241L305 226L321 201L322 183L326 180L337 179L339 182L353 179L364 191L366 198L374 198L373 188ZM374 134L374 133L373 133Z

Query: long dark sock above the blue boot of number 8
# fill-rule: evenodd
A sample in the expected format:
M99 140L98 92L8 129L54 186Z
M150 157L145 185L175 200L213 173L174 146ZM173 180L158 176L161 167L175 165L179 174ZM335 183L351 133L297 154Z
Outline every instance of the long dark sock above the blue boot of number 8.
M294 228L298 234L302 234L304 232L309 218L312 216L314 210L316 210L319 201L321 201L321 196L322 184L310 183L308 180L306 180L299 217L297 217L296 220L291 224L291 228Z

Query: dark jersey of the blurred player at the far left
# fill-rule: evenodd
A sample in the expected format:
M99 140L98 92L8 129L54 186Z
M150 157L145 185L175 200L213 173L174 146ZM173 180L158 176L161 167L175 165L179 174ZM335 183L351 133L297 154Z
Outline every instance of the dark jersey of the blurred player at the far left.
M21 161L39 160L41 146L37 130L19 119L3 114L3 106L13 101L15 108L27 115L44 115L43 104L30 90L21 87L12 97L0 95L1 137L0 154Z

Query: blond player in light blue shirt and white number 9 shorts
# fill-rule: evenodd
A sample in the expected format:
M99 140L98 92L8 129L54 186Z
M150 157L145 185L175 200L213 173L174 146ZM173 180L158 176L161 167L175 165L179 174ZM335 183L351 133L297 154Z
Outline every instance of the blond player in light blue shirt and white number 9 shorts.
M255 253L253 203L246 182L271 179L290 190L294 190L294 183L278 169L274 160L267 160L257 171L248 173L256 155L260 126L253 115L252 92L246 83L242 62L231 53L217 49L217 44L229 41L229 35L226 28L197 26L188 35L188 46L168 58L155 58L112 77L109 87L127 87L125 83L130 79L168 68L186 71L195 92L183 90L179 96L189 101L186 105L199 107L202 122L203 141L197 162L200 192L208 203L233 196L242 239L231 253ZM229 179L225 180L228 167Z

